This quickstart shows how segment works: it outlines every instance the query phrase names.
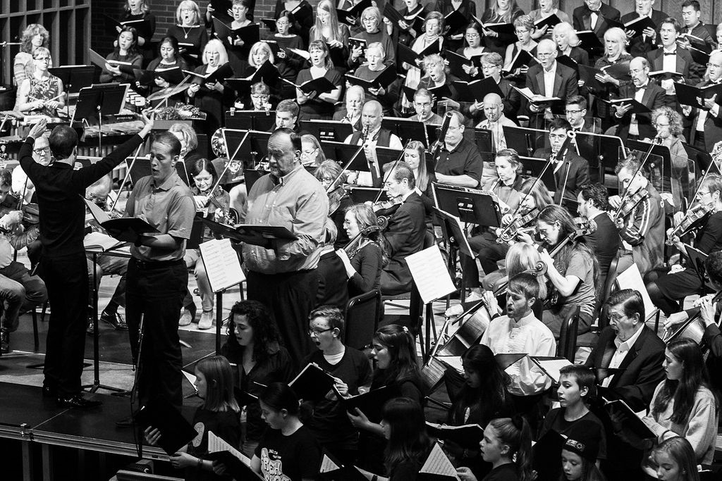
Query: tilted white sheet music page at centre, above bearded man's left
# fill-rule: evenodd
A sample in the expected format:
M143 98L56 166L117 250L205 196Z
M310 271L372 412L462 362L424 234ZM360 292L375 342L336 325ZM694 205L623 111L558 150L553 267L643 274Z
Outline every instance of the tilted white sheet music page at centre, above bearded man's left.
M431 247L406 257L412 278L419 289L424 304L429 304L440 297L456 291L451 275L441 257L439 246Z

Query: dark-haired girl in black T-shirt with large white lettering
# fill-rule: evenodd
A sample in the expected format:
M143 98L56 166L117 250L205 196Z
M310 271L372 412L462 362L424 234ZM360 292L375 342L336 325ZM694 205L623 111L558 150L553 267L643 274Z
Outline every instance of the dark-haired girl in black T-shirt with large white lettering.
M269 425L251 459L251 469L266 480L313 481L321 450L298 419L298 397L287 384L269 384L259 397Z

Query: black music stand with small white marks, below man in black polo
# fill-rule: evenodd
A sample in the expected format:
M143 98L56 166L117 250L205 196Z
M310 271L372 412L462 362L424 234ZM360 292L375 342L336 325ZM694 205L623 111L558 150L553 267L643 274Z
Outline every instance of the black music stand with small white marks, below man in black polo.
M438 208L460 221L484 227L500 226L501 210L492 193L436 182L432 183L432 189Z

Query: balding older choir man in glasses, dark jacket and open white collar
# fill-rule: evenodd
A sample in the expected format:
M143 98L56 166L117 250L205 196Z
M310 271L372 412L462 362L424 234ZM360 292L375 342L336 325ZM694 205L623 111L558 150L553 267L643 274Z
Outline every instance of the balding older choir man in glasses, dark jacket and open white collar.
M557 45L552 40L540 40L539 45L536 45L536 56L541 63L529 67L526 72L526 87L529 87L531 92L560 99L579 93L576 72L557 62ZM552 108L547 103L532 100L528 108L531 126L543 128L544 119L552 119Z

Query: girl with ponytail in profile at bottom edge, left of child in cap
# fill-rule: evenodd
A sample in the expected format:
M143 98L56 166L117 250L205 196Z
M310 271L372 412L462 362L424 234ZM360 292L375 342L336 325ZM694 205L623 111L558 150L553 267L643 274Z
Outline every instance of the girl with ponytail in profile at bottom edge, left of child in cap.
M531 430L521 416L492 419L484 428L479 443L482 458L493 465L482 481L531 481ZM461 481L477 481L468 467L460 467L456 474Z

